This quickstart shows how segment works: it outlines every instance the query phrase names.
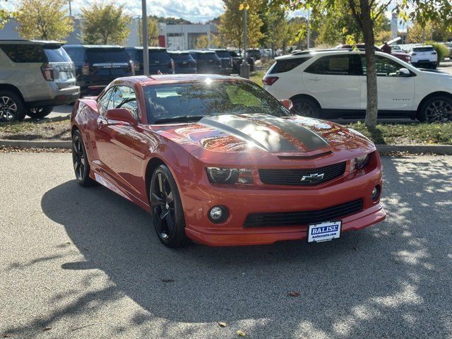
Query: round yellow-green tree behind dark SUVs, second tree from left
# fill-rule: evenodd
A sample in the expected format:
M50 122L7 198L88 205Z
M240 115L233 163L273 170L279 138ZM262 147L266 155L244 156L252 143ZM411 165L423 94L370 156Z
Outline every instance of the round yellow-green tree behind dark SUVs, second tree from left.
M130 33L131 16L124 5L92 4L81 9L85 44L122 44Z

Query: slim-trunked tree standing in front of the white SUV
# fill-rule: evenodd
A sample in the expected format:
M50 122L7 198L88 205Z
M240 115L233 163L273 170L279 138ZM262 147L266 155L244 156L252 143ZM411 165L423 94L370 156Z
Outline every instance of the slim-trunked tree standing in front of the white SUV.
M443 20L450 25L452 21L452 4L448 0L270 0L273 6L286 6L291 10L311 8L311 18L323 18L326 11L343 2L345 13L349 15L359 30L365 44L367 64L367 109L365 124L372 129L376 126L378 113L378 96L375 67L375 33L376 23L381 20L391 6L393 11L405 21L419 20L424 24L427 20Z

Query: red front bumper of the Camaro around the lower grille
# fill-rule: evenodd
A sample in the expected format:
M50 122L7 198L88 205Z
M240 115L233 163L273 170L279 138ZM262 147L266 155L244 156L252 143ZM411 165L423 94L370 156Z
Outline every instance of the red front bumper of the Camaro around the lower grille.
M351 174L350 174L351 175ZM379 201L371 200L371 191L381 186L381 167L354 178L338 178L321 188L309 189L225 189L213 185L190 184L182 188L186 234L195 242L210 246L272 244L282 240L305 239L308 225L244 227L251 213L292 212L330 208L341 203L363 200L363 208L343 221L343 232L360 230L386 218ZM226 206L230 217L222 224L208 219L213 206Z

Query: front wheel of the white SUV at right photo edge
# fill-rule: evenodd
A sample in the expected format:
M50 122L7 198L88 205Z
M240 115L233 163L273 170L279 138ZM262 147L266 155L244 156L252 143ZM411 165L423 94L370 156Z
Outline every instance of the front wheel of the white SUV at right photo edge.
M417 111L417 119L422 122L452 121L452 99L444 95L431 97Z

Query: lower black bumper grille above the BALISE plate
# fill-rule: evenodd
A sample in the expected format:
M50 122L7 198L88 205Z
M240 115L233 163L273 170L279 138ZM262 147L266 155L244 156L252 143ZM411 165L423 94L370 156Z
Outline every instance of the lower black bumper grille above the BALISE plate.
M362 199L341 203L323 210L300 210L298 212L251 213L244 227L273 227L309 225L322 221L334 221L362 210Z

